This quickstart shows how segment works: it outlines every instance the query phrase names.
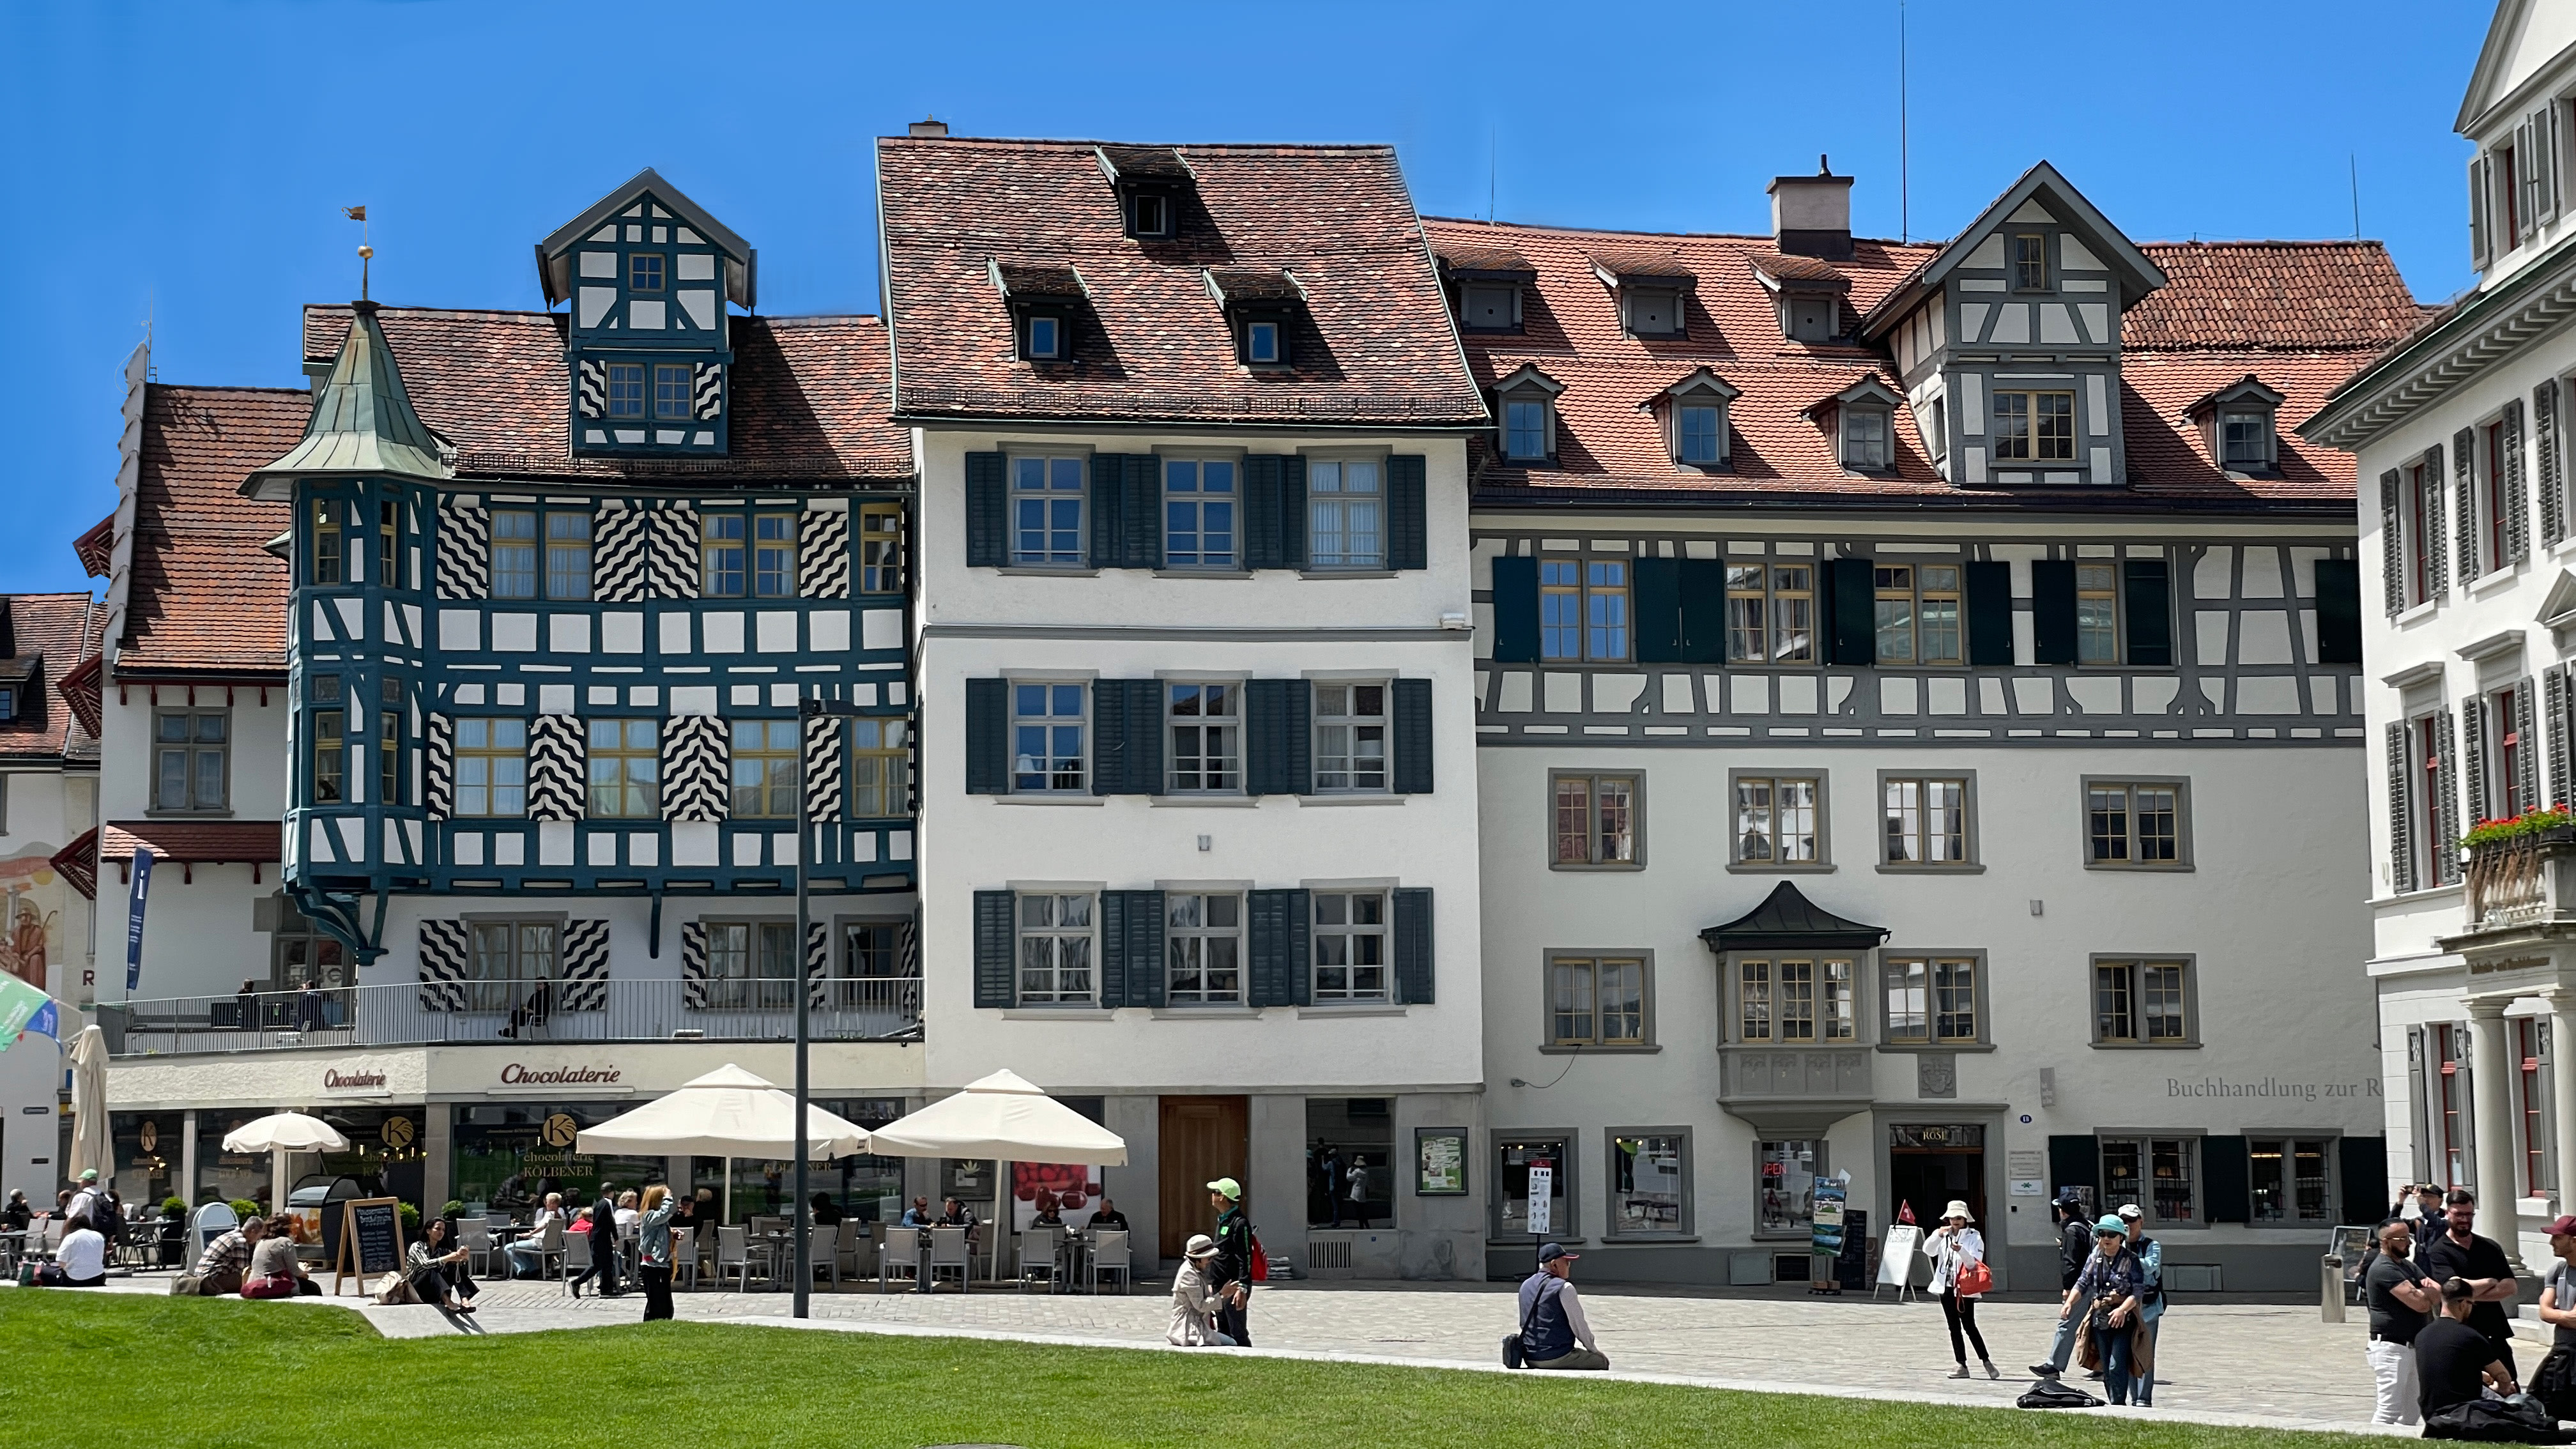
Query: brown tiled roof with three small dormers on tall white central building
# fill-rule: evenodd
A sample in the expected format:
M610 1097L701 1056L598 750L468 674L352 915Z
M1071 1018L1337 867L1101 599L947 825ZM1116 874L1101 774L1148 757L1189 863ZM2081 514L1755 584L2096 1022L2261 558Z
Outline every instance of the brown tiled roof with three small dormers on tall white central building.
M1422 227L1388 147L1180 147L1170 240L1123 235L1087 142L886 137L878 211L902 418L1473 425ZM987 255L1082 268L1097 325L1015 361ZM1293 366L1236 361L1208 268L1293 271Z

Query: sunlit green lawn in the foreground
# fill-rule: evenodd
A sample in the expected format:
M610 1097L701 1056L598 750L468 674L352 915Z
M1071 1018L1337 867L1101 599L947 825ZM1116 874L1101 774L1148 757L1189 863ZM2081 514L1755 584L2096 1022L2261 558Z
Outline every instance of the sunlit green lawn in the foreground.
M384 1341L355 1312L327 1307L70 1292L0 1294L0 1444L44 1449L2357 1444L1582 1377L716 1323Z

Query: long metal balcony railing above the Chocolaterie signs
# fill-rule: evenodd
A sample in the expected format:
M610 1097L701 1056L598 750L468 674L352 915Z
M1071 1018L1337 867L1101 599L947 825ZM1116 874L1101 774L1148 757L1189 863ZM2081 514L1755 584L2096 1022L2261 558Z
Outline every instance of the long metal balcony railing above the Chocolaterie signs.
M474 1042L788 1042L793 980L386 982L322 993L129 1000L100 1008L116 1057L430 1047ZM693 1003L696 1000L696 1003ZM443 1011L440 1003L461 1003ZM835 977L806 1008L814 1042L907 1042L920 977Z

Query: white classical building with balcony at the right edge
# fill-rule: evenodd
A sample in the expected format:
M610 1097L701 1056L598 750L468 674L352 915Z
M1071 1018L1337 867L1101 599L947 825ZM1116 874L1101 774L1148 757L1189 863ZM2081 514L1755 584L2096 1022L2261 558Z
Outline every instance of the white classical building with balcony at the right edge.
M2303 425L2362 480L2388 1176L2478 1191L2481 1230L2524 1263L2571 1201L2576 900L2563 830L2470 851L2463 835L2571 792L2571 95L2576 8L2499 5L2458 119L2478 284Z

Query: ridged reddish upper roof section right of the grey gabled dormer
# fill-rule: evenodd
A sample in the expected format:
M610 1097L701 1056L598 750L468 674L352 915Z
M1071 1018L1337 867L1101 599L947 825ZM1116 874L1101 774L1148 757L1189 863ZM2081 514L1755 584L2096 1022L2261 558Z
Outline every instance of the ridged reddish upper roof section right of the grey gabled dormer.
M2380 242L2143 242L2169 286L2120 317L2120 348L2378 353L2424 320Z

